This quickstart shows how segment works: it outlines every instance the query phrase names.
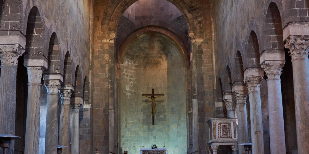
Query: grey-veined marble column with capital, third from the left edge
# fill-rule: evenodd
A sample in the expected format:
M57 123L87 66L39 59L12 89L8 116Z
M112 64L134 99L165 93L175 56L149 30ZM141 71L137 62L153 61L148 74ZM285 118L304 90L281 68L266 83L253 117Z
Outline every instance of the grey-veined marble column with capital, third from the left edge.
M47 89L45 154L55 154L57 153L58 141L58 90L60 80L45 80L44 82Z

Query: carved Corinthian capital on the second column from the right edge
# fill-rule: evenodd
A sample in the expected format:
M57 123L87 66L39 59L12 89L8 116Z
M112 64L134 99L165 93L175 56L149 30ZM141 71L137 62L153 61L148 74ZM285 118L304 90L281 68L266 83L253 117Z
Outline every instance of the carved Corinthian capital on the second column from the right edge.
M284 61L268 61L262 64L268 79L280 79L282 74L282 67L284 66Z

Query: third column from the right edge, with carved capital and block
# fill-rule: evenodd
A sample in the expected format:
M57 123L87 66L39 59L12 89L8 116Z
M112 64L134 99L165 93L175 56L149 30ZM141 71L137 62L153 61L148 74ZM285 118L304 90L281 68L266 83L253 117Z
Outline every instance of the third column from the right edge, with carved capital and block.
M260 87L264 71L258 68L247 68L244 72L244 82L248 86L250 100L250 121L252 153L264 153L264 137L261 109Z

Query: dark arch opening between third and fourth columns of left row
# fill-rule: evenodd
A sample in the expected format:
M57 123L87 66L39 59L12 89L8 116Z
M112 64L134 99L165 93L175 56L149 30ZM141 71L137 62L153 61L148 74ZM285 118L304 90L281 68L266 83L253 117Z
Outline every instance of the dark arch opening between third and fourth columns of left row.
M73 85L72 59L69 51L66 52L64 58L63 85Z

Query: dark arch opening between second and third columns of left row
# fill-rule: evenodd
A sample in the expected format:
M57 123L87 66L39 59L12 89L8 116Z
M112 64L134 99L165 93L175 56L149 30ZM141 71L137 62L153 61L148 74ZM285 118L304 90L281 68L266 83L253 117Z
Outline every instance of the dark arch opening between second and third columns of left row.
M60 67L60 46L56 33L53 33L50 37L47 59L48 73L61 73L63 71Z

